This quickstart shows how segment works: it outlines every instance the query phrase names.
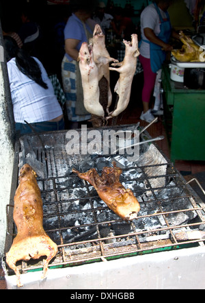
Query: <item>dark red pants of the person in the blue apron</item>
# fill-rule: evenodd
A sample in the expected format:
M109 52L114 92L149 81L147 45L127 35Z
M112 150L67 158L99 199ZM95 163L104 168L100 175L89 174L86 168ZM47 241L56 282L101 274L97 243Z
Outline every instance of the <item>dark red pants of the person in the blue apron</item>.
M140 55L139 60L143 67L143 89L141 99L143 102L150 102L150 97L156 80L156 73L153 73L151 69L150 59L144 58Z

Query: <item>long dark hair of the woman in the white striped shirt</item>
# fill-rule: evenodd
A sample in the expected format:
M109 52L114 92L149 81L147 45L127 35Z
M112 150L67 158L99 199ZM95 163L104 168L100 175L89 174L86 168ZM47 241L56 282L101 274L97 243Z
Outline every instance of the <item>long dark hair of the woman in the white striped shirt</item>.
M36 60L27 54L24 49L19 49L16 40L10 36L4 36L5 45L5 58L7 62L12 58L16 58L16 66L19 71L24 75L27 75L31 80L43 88L48 88L47 84L43 82L40 67Z

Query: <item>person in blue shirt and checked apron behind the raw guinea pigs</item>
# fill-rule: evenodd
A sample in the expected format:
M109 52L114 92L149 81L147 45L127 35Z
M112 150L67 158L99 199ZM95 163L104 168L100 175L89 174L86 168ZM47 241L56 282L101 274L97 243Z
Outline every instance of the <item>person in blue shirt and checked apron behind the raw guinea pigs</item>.
M86 121L91 117L83 105L83 88L77 60L82 43L88 43L93 36L96 23L90 17L95 9L94 3L95 0L72 1L72 16L64 29L66 53L61 63L61 76L70 128L79 127L79 121Z

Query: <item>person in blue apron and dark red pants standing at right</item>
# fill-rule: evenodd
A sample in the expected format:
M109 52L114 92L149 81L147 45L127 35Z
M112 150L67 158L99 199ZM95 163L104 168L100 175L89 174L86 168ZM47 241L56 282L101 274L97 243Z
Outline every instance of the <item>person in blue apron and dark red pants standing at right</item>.
M179 38L172 29L167 9L172 0L156 0L141 12L141 41L139 43L139 60L143 67L143 112L140 119L148 123L154 120L150 109L150 98L154 89L156 73L166 58L166 52L172 51L169 38Z

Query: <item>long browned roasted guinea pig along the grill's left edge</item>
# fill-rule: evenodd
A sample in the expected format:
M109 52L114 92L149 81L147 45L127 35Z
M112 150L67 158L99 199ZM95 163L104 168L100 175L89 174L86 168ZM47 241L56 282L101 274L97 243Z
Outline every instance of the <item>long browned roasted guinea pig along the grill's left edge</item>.
M42 226L42 199L36 181L36 172L30 165L25 164L20 169L19 181L14 196L14 222L17 235L10 251L6 254L6 262L16 274L17 286L22 287L16 262L47 256L44 260L42 276L45 278L49 262L57 254L57 245L49 238Z

